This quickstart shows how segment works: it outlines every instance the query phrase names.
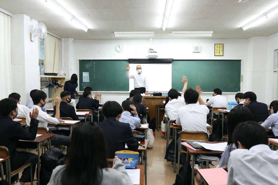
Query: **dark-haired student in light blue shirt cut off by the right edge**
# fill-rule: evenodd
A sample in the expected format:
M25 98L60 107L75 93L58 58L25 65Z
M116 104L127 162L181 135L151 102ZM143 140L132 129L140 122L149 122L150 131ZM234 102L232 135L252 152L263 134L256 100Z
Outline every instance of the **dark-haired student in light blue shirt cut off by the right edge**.
M278 138L278 101L274 100L269 105L271 115L261 124L265 129L271 127L271 130L276 138Z

